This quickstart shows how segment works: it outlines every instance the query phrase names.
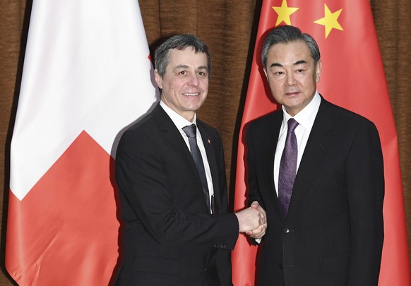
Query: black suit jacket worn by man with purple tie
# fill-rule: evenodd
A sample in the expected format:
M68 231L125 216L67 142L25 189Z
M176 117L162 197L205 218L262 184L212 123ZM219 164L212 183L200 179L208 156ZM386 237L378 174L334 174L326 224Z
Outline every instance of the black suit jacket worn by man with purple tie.
M282 110L249 124L249 201L267 212L261 285L377 285L383 244L383 157L364 117L321 98L280 214L273 164Z

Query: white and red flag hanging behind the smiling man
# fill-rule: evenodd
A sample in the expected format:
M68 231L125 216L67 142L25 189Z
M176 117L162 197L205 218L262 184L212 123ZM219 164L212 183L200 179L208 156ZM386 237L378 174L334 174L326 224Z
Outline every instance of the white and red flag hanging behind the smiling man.
M11 142L6 268L18 285L111 285L114 157L156 88L136 0L33 1Z

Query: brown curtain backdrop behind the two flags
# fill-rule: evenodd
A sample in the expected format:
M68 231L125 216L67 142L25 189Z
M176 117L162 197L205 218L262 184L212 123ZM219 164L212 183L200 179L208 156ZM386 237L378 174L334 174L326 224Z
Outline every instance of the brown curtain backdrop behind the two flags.
M230 198L234 195L237 140L249 78L261 0L141 0L148 44L192 33L210 48L212 71L208 99L198 116L215 126L225 146ZM13 285L4 270L11 131L23 66L32 0L0 2L0 285ZM371 0L388 90L398 132L408 244L411 245L411 2ZM81 43L78 43L81 44ZM353 43L361 44L361 43ZM372 73L373 71L364 71ZM361 95L358 95L361 96ZM373 102L369 102L372 105ZM411 256L411 255L410 255Z

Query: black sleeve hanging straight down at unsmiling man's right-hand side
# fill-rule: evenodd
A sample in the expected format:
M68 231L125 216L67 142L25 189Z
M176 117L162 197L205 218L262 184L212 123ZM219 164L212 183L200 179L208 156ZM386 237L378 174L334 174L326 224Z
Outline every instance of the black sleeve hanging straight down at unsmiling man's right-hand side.
M351 250L347 285L377 285L383 245L383 156L379 134L362 124L347 158Z

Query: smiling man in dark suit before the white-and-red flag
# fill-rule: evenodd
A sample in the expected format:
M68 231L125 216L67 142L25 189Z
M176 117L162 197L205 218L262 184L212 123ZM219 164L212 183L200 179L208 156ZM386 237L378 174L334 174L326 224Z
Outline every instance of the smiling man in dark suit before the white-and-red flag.
M208 93L208 48L193 35L171 37L157 48L155 67L161 101L117 148L124 220L117 285L232 285L239 232L262 237L266 219L258 203L227 213L222 141L196 118Z

